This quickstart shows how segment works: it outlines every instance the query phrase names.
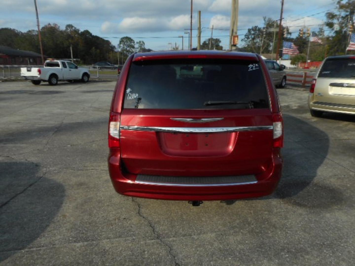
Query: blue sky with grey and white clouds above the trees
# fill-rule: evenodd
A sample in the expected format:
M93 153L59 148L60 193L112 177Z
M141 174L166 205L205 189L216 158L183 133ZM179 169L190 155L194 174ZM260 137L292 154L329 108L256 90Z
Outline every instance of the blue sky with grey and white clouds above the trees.
M324 22L325 12L334 8L335 0L285 0L284 25L291 26L293 36L299 27ZM35 11L32 0L1 0L0 27L20 31L35 29ZM88 29L100 37L107 37L116 45L118 39L130 36L143 40L147 48L168 49L168 43L181 48L184 29L190 27L190 0L37 0L40 24L57 23L61 27L73 24L81 30ZM239 0L239 35L246 29L262 26L263 16L278 19L280 0ZM211 35L228 47L231 0L193 0L193 28L197 28L197 11L201 10L202 41ZM302 18L302 19L300 19ZM312 26L316 30L318 26ZM218 30L217 30L218 29ZM193 36L197 31L193 31ZM116 38L113 38L116 37ZM142 38L140 38L142 37ZM144 37L144 38L143 38ZM152 38L163 37L163 38ZM187 39L185 39L187 48ZM193 38L196 46L196 38Z

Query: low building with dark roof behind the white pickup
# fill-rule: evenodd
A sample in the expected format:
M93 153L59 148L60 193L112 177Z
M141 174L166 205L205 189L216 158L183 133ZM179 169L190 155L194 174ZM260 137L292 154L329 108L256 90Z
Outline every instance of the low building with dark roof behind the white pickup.
M42 57L37 52L18 50L0 45L0 65L42 65Z

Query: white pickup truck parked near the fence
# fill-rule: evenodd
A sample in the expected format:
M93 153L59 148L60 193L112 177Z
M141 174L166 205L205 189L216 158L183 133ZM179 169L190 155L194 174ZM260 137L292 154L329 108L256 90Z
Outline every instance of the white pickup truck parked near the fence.
M88 82L90 73L87 68L78 67L70 61L48 60L44 67L21 67L21 76L31 80L34 85L39 85L42 81L56 85L60 80Z

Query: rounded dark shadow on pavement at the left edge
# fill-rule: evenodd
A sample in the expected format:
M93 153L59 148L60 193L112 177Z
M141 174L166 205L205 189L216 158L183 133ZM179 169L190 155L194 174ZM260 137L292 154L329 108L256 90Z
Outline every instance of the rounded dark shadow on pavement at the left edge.
M62 206L64 186L39 169L31 162L0 162L0 262L34 242Z

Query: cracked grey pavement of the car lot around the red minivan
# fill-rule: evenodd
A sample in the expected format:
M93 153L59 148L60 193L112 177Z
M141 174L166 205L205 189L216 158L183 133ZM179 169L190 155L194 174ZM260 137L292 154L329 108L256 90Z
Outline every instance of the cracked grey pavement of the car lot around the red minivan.
M354 265L354 117L280 89L277 191L192 207L114 192L114 85L0 82L0 265Z

